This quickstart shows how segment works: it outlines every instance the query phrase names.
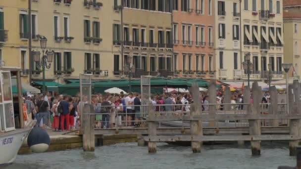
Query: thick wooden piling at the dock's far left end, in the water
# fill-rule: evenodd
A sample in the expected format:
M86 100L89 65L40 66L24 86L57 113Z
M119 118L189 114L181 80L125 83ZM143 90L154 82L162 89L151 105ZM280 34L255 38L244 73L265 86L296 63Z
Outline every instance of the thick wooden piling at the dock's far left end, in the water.
M84 151L94 151L95 150L95 135L94 135L94 124L95 115L94 106L90 104L85 104L83 108L83 149Z

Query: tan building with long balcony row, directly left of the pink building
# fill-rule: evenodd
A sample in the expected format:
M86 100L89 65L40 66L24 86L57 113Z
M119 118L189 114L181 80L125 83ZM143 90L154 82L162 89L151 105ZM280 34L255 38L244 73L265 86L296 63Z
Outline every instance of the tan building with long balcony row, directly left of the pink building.
M137 78L173 75L171 0L146 2L123 0L124 65L126 58L132 57Z

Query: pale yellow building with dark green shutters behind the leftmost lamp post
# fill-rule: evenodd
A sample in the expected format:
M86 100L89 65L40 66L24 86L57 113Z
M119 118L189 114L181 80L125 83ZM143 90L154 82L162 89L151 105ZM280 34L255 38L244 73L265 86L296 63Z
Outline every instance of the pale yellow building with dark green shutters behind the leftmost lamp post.
M84 73L93 79L115 78L121 69L120 50L113 46L121 19L118 4L120 0L32 0L32 49L42 53L40 35L54 51L47 80L63 83ZM41 80L41 71L34 61L32 65L33 81Z

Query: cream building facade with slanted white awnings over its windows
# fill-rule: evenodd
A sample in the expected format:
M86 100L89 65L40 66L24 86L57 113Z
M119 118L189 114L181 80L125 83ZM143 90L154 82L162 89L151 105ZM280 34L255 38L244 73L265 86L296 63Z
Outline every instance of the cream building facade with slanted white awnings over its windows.
M269 73L271 80L283 79L282 0L242 0L241 7L241 59L251 54L251 79L269 81Z

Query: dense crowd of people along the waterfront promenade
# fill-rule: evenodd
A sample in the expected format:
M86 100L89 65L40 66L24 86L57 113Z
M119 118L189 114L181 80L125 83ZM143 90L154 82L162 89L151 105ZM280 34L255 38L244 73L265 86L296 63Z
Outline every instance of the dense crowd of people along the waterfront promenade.
M207 92L200 92L202 110L209 110L209 96ZM232 92L232 110L243 109L244 103L242 92ZM88 103L88 98L84 97L83 103ZM264 92L262 103L270 100L269 92ZM119 93L119 94L94 94L91 102L95 107L96 124L98 128L112 128L118 126L139 127L143 117L146 116L141 110L140 93ZM173 112L172 114L189 114L190 104L193 103L192 95L189 93L163 93L152 94L150 102L154 105L155 112ZM251 98L252 102L252 98ZM223 110L224 95L222 91L216 94L216 109ZM24 104L27 112L32 115L32 119L37 120L37 124L43 128L52 128L53 131L69 131L80 126L80 95L72 97L70 95L52 96L49 92L45 96L28 96ZM180 113L181 112L181 113Z

